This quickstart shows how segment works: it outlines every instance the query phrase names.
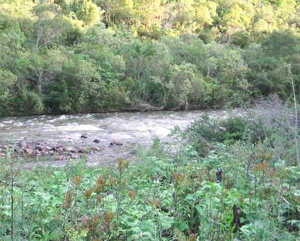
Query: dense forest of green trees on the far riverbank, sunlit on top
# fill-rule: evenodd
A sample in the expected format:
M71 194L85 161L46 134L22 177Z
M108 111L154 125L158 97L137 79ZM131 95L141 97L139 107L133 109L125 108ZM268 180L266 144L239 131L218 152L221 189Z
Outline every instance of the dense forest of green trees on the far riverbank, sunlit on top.
M286 99L291 78L299 0L0 0L0 115Z

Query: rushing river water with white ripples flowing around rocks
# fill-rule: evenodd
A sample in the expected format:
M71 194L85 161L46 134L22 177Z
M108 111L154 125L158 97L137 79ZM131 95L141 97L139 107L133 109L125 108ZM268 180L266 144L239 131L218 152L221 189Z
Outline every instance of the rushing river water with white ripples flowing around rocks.
M185 128L203 113L213 117L226 115L225 110L217 109L5 117L0 118L0 148L13 139L47 145L67 143L73 146L98 146L103 150L89 154L88 163L111 163L118 156L133 156L129 153L132 149L148 146L155 136L161 141L167 140L167 135L175 125ZM82 134L87 138L81 138ZM99 139L100 142L93 143L93 139ZM111 146L109 142L115 139L123 145ZM64 160L53 159L50 155L43 156L42 160L44 164L65 164ZM32 163L24 164L25 167L30 165Z

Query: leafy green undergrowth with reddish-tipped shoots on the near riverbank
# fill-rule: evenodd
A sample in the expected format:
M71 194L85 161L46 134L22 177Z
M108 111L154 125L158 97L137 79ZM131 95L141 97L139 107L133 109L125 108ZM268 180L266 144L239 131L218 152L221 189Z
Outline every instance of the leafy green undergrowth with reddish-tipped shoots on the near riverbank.
M252 112L203 116L174 128L170 143L154 139L134 162L118 158L112 167L88 167L82 158L27 170L7 149L1 240L298 240L300 171L289 112L271 124Z

